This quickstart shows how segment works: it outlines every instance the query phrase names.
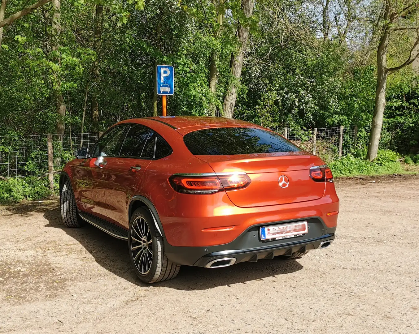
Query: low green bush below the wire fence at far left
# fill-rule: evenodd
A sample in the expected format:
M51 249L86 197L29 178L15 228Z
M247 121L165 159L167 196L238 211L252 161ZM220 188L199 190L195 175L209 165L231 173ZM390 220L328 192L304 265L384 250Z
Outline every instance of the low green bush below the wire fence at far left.
M0 180L0 203L19 200L39 200L51 195L46 177L15 177Z

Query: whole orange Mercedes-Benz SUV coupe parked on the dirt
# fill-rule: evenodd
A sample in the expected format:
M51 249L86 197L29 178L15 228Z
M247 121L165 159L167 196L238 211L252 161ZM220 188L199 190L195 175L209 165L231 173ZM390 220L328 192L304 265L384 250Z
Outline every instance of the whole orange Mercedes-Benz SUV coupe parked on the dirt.
M181 265L296 258L334 240L324 162L261 126L228 118L130 119L76 152L60 175L62 221L127 240L143 282Z

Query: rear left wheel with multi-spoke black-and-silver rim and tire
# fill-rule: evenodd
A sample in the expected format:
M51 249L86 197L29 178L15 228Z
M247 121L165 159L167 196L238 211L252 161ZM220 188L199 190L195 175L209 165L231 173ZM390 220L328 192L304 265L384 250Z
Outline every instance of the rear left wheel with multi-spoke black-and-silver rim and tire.
M175 278L181 267L166 257L163 238L145 208L135 210L129 220L128 252L135 273L144 283Z

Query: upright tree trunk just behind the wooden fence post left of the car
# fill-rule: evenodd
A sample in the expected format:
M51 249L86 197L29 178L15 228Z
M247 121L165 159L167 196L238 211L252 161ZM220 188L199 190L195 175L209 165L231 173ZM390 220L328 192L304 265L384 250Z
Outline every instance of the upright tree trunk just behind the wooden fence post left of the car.
M54 51L53 56L53 62L55 64L58 64L58 66L61 66L61 61L59 56L57 56L58 52L58 45L59 45L59 34L61 31L61 1L60 0L52 0L52 31L51 31L51 37L52 37L52 51ZM56 104L56 111L57 111L57 123L55 125L55 133L58 135L59 140L62 142L64 138L64 130L65 130L65 124L64 124L64 116L65 116L65 103L64 98L62 97L61 92L61 81L59 80L59 77L57 76L57 73L54 72L54 97L55 97L55 104Z

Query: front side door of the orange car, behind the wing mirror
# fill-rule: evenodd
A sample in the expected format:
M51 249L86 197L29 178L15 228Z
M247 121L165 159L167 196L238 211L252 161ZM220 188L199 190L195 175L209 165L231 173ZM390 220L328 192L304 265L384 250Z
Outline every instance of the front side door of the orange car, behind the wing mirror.
M90 157L84 159L79 165L76 180L79 197L78 200L83 211L107 219L106 201L104 193L104 180L108 159L119 150L119 141L124 126L116 126L106 131L91 149Z

